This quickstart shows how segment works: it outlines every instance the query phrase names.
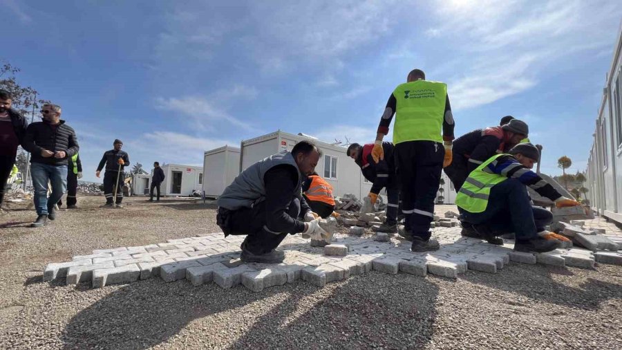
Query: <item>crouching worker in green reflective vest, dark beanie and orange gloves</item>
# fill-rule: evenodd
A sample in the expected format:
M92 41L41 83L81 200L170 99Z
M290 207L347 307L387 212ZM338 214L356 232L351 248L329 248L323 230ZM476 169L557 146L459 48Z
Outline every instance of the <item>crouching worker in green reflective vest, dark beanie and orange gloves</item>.
M538 155L534 145L522 143L473 170L455 197L463 223L482 237L514 232L514 250L520 252L549 252L558 248L558 239L567 240L545 230L553 214L531 205L526 186L554 201L557 208L581 203L562 196L530 170Z

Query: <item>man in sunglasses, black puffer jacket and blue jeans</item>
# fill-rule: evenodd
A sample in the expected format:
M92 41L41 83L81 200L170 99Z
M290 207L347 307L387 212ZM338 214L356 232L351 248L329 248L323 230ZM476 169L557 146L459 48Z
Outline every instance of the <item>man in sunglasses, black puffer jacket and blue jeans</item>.
M54 205L67 188L68 158L79 150L75 131L60 119L59 105L44 104L41 115L41 122L28 125L22 145L31 154L30 174L35 187L37 220L30 226L34 228L45 225L48 219L56 219ZM48 183L52 185L49 198Z

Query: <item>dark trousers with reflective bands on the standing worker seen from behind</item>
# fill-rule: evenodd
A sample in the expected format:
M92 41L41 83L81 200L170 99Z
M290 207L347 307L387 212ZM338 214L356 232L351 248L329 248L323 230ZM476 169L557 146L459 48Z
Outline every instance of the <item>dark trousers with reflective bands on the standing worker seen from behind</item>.
M413 239L430 239L444 156L445 149L440 142L407 141L395 145L402 212L411 225Z

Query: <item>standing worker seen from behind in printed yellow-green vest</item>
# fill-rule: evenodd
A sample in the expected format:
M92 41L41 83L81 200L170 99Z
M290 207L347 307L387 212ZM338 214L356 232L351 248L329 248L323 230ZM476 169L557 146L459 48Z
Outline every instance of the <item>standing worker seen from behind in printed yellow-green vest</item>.
M447 85L426 81L425 73L419 69L408 73L407 82L391 93L380 119L372 150L376 163L384 159L382 139L394 114L395 168L402 212L411 226L411 250L437 250L440 246L431 238L430 223L442 168L451 163L455 127Z

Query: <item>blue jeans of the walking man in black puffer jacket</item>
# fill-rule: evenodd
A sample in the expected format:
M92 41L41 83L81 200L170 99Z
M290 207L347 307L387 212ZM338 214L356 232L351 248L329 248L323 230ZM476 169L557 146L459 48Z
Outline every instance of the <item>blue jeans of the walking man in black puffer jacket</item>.
M62 198L67 189L67 165L49 165L32 163L30 165L32 185L35 187L35 209L37 215L48 214ZM52 193L48 198L48 181L52 185Z

